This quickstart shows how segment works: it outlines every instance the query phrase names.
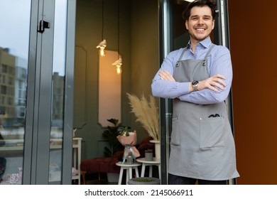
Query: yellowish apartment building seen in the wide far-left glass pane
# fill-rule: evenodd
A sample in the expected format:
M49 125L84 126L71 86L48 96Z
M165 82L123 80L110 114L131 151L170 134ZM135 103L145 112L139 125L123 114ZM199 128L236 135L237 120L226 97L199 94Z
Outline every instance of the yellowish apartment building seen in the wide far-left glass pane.
M22 127L26 109L27 63L0 47L0 110L5 127Z

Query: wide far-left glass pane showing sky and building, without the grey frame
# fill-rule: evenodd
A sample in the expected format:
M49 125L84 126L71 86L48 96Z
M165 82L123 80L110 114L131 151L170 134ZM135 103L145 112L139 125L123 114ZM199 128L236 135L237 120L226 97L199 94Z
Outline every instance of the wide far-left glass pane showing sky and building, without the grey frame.
M0 184L21 184L31 0L0 5Z

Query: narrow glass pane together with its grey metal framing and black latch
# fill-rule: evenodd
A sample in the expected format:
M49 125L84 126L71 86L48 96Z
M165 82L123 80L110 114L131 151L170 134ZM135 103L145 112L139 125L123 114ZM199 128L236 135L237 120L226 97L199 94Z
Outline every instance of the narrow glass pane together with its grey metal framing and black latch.
M71 184L75 1L32 9L23 183Z

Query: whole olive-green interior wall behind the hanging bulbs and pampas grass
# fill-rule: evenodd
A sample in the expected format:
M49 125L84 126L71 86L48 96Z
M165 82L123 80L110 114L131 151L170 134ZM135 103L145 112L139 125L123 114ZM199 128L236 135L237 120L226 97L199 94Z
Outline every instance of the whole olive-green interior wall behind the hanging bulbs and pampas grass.
M117 2L104 1L103 35L109 50L118 50ZM147 133L130 113L126 92L151 93L150 82L159 68L157 2L120 0L121 122L138 131L138 141ZM96 45L102 41L102 1L77 1L76 14L74 124L80 128L76 134L83 139L82 159L85 159L103 156L102 149L107 145L102 138L104 128L97 124L99 58Z

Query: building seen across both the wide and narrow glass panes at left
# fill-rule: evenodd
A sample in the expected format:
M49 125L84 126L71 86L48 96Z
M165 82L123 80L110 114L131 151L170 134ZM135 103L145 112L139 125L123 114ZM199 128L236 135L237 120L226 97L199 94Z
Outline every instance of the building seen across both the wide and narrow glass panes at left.
M53 127L63 127L65 77L53 72ZM4 127L23 127L26 114L27 63L0 47L0 111L7 114Z

